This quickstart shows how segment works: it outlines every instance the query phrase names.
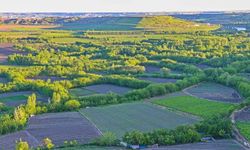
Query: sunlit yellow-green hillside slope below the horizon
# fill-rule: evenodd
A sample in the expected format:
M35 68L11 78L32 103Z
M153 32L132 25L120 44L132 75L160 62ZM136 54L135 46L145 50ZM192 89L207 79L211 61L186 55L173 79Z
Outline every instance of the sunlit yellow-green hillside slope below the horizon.
M137 28L169 32L195 32L216 30L219 26L186 21L171 16L150 16L144 17L137 24Z

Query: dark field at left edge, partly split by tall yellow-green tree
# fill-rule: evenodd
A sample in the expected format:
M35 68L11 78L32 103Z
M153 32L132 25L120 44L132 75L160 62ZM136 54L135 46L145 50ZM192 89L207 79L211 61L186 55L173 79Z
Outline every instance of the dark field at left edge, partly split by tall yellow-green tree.
M24 92L10 92L0 94L0 102L3 102L7 106L18 106L20 104L26 103L28 96L30 96L32 91L24 91ZM48 98L37 94L37 101L48 102Z

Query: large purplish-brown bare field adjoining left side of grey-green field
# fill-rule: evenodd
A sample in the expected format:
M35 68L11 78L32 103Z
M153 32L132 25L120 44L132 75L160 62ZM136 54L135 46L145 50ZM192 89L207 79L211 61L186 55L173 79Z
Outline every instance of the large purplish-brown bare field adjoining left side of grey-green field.
M30 118L27 131L38 141L49 137L56 145L77 140L86 144L101 135L88 119L78 112L48 113Z

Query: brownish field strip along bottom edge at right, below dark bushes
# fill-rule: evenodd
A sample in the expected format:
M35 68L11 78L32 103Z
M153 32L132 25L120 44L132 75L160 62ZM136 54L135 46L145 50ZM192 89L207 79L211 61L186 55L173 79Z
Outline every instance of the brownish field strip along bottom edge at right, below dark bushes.
M235 140L217 140L215 142L163 146L147 150L245 150L245 148Z

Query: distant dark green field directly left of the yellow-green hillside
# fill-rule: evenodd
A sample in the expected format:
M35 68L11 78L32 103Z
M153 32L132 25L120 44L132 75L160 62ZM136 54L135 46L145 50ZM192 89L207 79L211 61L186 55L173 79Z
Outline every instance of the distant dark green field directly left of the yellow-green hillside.
M83 18L78 21L63 23L58 29L63 30L135 30L140 17L104 17ZM138 30L138 29L136 29Z

